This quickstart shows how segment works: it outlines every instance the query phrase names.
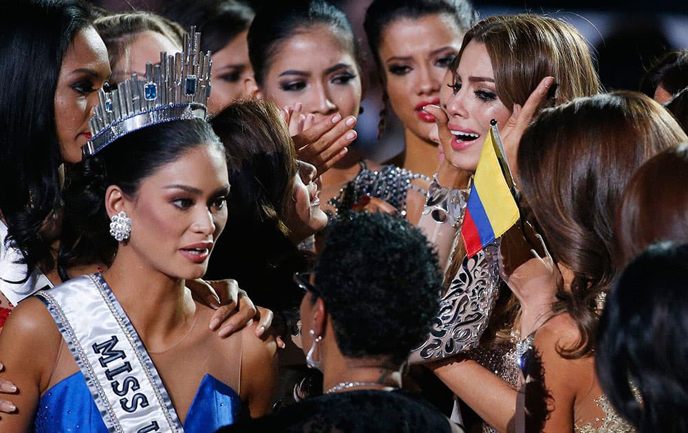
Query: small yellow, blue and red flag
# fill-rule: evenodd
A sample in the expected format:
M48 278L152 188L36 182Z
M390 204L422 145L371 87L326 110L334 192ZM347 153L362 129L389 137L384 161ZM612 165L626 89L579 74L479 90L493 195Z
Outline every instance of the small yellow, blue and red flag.
M461 236L466 255L472 257L519 219L519 208L513 195L511 177L497 122L491 122L482 153L473 175Z

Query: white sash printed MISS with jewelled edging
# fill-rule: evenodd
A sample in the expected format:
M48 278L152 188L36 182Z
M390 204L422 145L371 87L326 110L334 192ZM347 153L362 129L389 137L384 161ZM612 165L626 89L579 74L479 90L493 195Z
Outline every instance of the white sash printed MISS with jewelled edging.
M100 274L36 292L86 378L109 432L183 432L141 340Z

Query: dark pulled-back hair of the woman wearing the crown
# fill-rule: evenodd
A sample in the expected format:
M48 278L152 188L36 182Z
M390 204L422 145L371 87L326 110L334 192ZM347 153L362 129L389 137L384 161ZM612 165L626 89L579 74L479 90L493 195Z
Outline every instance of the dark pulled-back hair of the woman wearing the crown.
M195 146L224 146L210 124L201 119L175 120L147 126L112 142L74 166L65 188L65 223L61 237L61 273L73 265L110 265L117 241L109 234L105 191L117 185L136 197L143 179L175 162Z

